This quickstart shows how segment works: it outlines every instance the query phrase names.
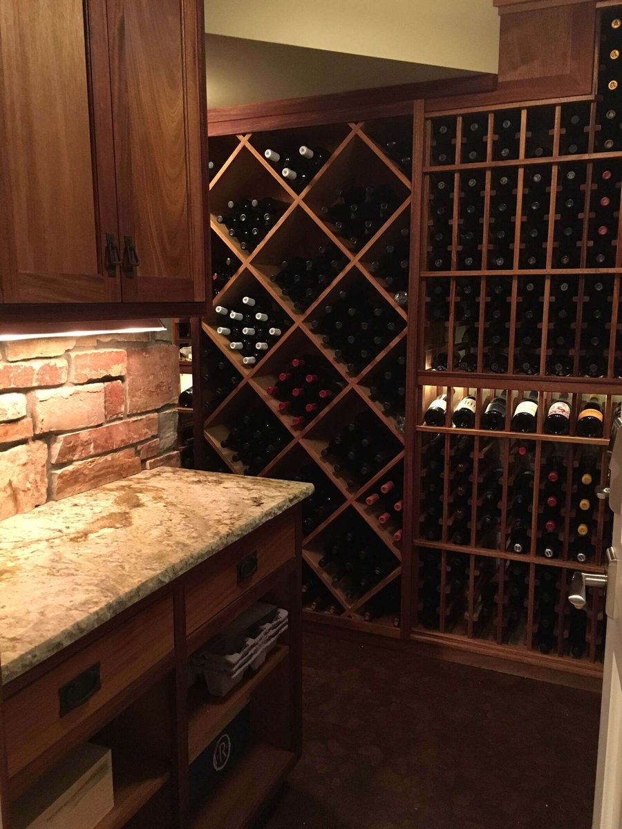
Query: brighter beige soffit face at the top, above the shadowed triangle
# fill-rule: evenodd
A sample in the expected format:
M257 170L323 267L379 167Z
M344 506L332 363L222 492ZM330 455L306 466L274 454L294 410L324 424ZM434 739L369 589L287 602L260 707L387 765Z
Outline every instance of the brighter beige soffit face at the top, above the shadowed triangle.
M210 34L496 72L492 0L205 0Z

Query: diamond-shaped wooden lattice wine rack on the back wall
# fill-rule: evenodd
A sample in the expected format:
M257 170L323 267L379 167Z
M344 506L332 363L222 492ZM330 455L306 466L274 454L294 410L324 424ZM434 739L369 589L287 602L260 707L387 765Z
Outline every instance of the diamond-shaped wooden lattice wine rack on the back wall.
M369 269L370 262L376 258L381 246L387 245L399 228L404 225L410 228L411 225L411 179L386 157L377 139L385 134L387 128L394 128L401 134L406 133L410 141L412 118L399 117L391 120L393 124L387 124L384 120L372 120L301 129L299 143L317 143L328 148L331 156L309 186L299 194L289 187L278 172L275 172L263 155L264 149L270 146L269 141L279 145L284 136L278 133L252 133L236 135L233 138L212 139L211 158L216 156L217 167L210 184L212 250L215 257L219 253L232 254L240 262L236 273L217 294L214 305L235 305L245 294L259 297L260 300L269 298L278 303L279 308L288 315L291 325L280 337L277 345L251 368L243 366L239 356L232 352L228 348L228 343L216 333L216 314L208 315L202 325L211 347L215 347L226 360L231 361L242 378L235 393L208 414L205 422L207 444L214 453L221 456L231 472L240 473L241 464L231 460L231 453L221 448L221 440L226 436L241 407L263 401L272 414L281 420L289 432L288 443L260 474L277 478L289 477L298 473L299 468L305 464L316 464L321 470L320 474L333 484L340 501L335 511L304 537L304 560L333 594L341 613L308 615L313 618L319 618L321 615L323 620L333 623L364 625L366 629L369 626L362 622L361 608L368 599L395 579L399 579L401 575L401 544L393 541L392 532L382 529L373 511L364 503L366 493L372 491L376 483L387 478L392 470L397 469L399 474L402 474L404 458L403 434L397 428L395 419L385 414L381 407L372 401L369 389L371 378L381 371L393 356L406 353L407 313L396 303L381 280L372 276ZM296 138L290 131L286 133L286 138L289 143L295 143ZM343 240L333 234L330 225L325 224L320 217L319 208L324 203L331 203L337 182L344 186L360 183L385 184L393 187L400 196L400 204L393 215L370 238L367 245L357 252L349 250ZM248 255L235 240L222 231L222 225L215 221L215 216L225 211L226 201L229 199L245 198L250 193L272 196L284 201L287 209L270 234ZM318 245L328 241L332 241L346 257L345 267L304 313L296 313L293 305L270 281L270 276L278 271L281 260L293 255L310 256ZM357 288L362 285L371 289L372 295L377 297L377 303L382 307L391 308L398 325L396 336L391 342L357 376L350 376L346 367L333 359L332 351L323 345L321 337L312 331L309 322L315 313L321 312L323 304L327 303L338 289ZM345 382L345 387L317 417L306 424L304 429L294 429L292 418L278 413L275 400L268 395L266 389L274 383L279 371L283 371L294 356L303 354L318 356L336 380ZM332 465L326 463L321 450L328 443L328 439L352 416L364 411L372 412L382 424L386 442L386 447L382 448L391 451L391 460L364 485L356 491L350 491L343 476L334 473ZM333 585L328 575L318 567L318 560L327 534L352 526L353 522L358 522L359 526L362 524L377 536L381 545L385 545L390 551L395 565L391 573L367 594L348 600L343 591ZM394 626L392 620L387 619L386 624L377 627L390 636L399 636L399 629Z

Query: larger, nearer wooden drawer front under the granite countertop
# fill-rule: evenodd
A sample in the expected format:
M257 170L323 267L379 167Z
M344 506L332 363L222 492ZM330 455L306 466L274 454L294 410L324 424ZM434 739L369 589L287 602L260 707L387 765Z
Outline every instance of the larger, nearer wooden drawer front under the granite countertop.
M12 776L173 652L173 599L149 604L4 703Z

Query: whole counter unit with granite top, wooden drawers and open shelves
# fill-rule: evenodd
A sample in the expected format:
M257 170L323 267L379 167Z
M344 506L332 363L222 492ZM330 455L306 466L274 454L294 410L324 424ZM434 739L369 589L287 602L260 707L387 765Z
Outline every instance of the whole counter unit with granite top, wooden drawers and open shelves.
M311 492L158 468L0 524L9 802L95 739L113 757L103 829L254 819L299 755L297 505ZM192 653L260 599L289 613L265 664L222 699L188 687ZM244 705L249 747L191 812L189 764Z

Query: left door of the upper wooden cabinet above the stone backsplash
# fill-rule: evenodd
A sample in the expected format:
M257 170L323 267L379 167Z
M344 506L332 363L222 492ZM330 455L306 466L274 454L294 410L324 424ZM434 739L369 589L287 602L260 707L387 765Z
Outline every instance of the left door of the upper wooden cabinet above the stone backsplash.
M86 14L82 0L0 0L5 303L120 299L104 253L118 230L106 20ZM92 81L104 90L95 105Z

